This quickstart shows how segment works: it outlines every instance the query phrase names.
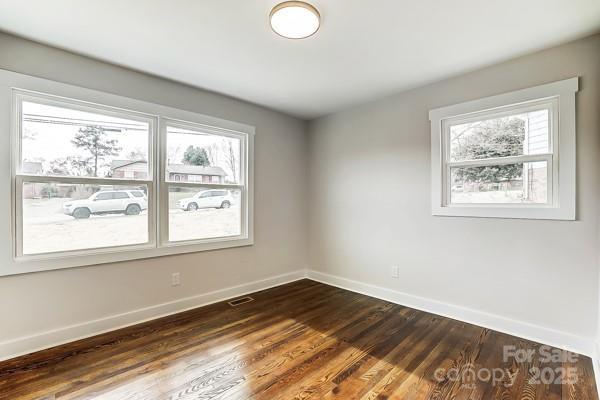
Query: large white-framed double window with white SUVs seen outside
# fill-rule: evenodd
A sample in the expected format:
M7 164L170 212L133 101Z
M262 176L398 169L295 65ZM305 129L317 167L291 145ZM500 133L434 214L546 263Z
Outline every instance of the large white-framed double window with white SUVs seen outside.
M0 276L253 243L253 127L8 71L0 86Z

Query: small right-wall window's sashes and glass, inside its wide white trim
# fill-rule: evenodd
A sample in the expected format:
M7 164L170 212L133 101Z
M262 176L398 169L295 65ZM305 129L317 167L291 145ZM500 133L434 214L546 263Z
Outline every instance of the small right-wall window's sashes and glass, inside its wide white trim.
M556 102L445 120L448 203L551 203Z

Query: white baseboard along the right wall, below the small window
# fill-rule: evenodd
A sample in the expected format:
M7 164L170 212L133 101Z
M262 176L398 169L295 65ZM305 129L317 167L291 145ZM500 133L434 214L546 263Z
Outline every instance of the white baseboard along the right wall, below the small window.
M498 332L507 333L509 335L556 348L573 351L588 357L594 357L596 354L596 344L592 338L580 337L528 322L517 321L483 311L442 303L436 300L418 297L314 270L308 270L307 277L327 285L336 286L356 293L386 300L391 303L493 329ZM596 376L598 376L598 374L596 374Z

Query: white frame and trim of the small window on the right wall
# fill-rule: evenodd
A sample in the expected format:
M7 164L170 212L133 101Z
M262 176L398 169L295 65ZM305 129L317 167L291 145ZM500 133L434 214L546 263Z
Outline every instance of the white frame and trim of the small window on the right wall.
M429 112L431 121L431 209L436 216L576 219L576 127L575 94L578 77L486 97ZM532 154L495 159L450 161L448 144L451 125L498 118L534 110L549 111L549 149ZM468 167L546 161L546 203L452 203L452 167Z

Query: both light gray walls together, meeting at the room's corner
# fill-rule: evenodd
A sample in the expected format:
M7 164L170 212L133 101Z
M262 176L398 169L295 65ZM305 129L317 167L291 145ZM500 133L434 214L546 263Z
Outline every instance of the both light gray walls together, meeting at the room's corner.
M0 277L0 342L307 266L596 333L598 35L320 118L308 135L303 121L5 34L0 68L257 128L253 247ZM576 75L576 222L431 216L429 109ZM8 168L7 153L0 163ZM401 279L389 277L391 265ZM170 286L173 271L182 273L179 288Z

